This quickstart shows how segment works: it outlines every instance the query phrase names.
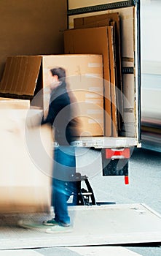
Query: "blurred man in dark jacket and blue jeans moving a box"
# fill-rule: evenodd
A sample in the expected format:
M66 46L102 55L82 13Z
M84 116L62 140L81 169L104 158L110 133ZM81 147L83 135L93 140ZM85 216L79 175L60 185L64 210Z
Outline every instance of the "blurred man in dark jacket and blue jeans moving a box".
M55 129L55 147L53 178L52 178L52 206L55 217L44 221L43 224L52 226L49 233L71 225L68 215L68 198L74 195L76 205L76 158L75 148L71 143L79 137L79 123L76 116L76 102L70 91L67 91L66 71L58 67L50 69L50 105L47 118L42 124L51 124ZM60 227L61 226L61 227Z

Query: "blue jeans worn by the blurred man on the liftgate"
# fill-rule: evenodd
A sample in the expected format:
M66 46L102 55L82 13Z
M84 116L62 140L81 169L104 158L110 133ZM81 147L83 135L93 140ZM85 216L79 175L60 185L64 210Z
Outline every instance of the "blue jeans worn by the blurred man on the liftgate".
M68 216L68 198L74 194L76 204L76 173L75 149L72 146L59 146L54 152L54 167L52 178L52 206L55 220L70 223Z

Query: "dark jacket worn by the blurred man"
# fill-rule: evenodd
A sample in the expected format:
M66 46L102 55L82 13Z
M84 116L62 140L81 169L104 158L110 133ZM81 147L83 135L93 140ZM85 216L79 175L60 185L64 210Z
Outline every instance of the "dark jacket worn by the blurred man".
M71 100L62 82L50 95L47 118L42 124L51 124L55 129L55 141L60 146L69 146L77 135L76 121L72 118Z

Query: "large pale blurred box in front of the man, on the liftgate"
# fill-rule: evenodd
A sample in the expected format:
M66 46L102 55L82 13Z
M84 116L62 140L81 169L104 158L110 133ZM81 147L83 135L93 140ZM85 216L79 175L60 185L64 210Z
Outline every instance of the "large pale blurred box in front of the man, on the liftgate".
M0 110L0 212L50 211L52 130L42 110Z

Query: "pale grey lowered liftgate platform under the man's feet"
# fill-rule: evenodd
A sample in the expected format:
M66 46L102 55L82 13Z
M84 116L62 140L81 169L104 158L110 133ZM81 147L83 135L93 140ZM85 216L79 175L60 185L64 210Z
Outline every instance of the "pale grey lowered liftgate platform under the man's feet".
M69 206L72 227L46 233L50 214L1 214L0 250L161 241L161 217L144 204Z

